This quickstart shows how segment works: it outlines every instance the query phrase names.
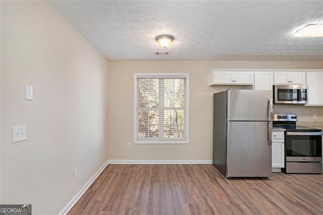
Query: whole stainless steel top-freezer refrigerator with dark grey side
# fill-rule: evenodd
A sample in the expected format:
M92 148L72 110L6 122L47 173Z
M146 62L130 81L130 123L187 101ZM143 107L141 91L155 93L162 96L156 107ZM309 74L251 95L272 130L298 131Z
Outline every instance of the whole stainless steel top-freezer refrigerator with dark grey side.
M225 177L272 175L272 92L213 94L213 166Z

